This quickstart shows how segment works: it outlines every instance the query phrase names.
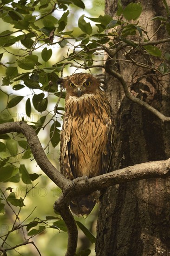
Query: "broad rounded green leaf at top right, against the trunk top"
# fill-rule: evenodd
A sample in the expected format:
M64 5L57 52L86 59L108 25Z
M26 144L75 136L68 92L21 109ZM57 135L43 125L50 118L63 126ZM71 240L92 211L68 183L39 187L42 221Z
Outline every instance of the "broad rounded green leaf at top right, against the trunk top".
M125 7L123 14L126 20L137 20L142 13L142 5L141 3L130 3Z

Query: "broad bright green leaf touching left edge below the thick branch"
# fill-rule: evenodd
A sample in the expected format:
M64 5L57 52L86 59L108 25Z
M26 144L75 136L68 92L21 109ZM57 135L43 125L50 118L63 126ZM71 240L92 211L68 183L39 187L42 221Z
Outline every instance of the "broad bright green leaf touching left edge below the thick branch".
M12 165L8 165L0 168L0 181L8 182L9 179L15 176L19 172L19 168L16 168Z

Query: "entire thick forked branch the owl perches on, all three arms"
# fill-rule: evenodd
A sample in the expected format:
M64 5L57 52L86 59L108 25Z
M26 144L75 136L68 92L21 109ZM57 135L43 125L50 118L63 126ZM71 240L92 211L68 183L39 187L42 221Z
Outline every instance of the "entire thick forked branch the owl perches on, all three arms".
M60 195L59 199L54 204L54 209L59 211L67 225L68 246L66 256L75 255L78 239L77 226L68 208L69 202L73 197L124 182L170 176L170 159L168 159L166 161L147 162L126 167L111 173L93 177L89 179L88 182L80 180L74 185L72 181L67 180L49 162L33 128L22 121L0 124L0 134L10 132L21 132L26 136L39 167L63 190L62 195Z

